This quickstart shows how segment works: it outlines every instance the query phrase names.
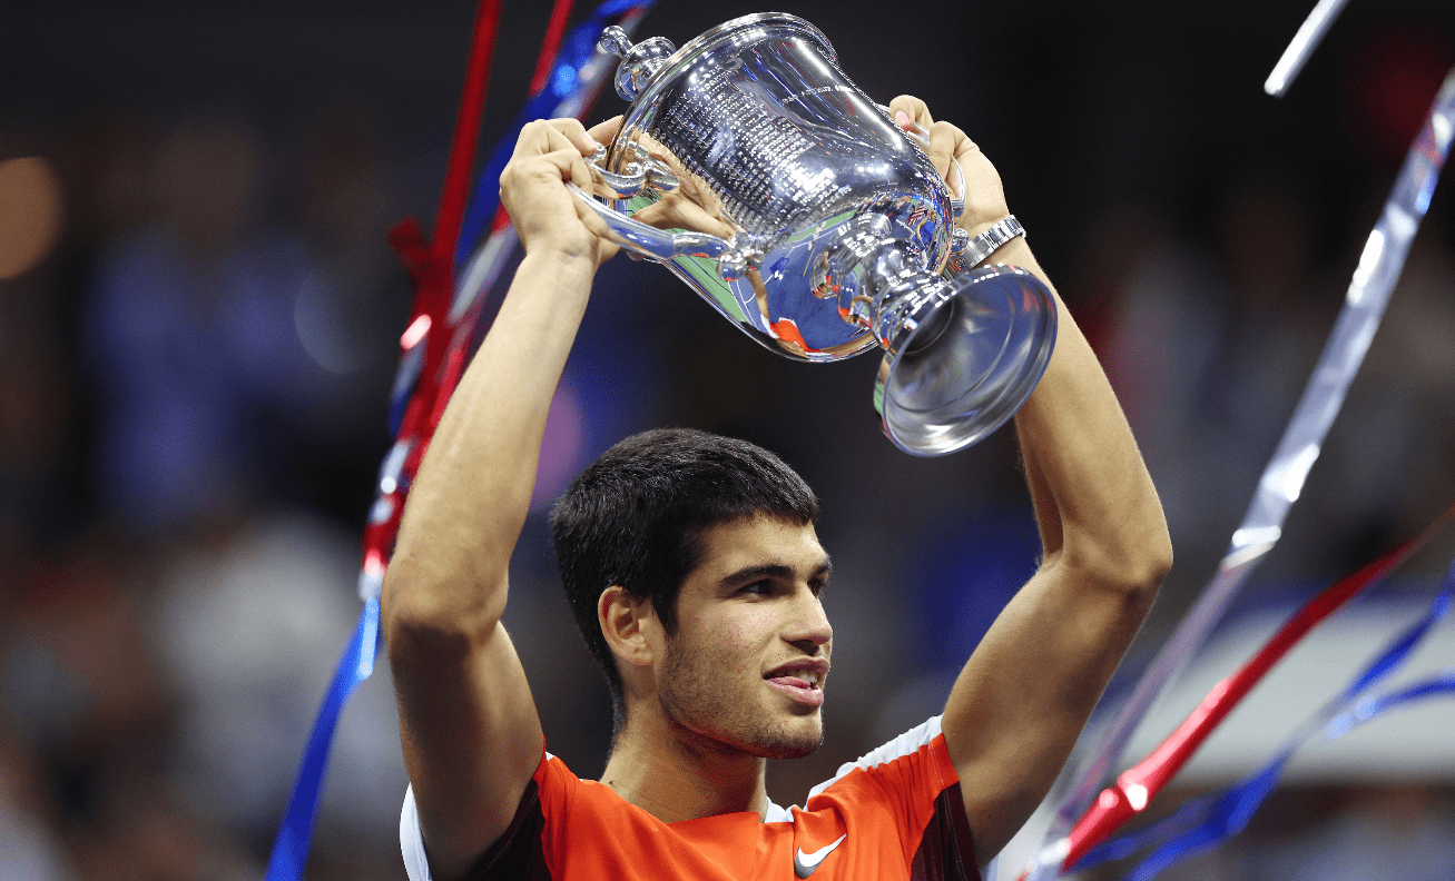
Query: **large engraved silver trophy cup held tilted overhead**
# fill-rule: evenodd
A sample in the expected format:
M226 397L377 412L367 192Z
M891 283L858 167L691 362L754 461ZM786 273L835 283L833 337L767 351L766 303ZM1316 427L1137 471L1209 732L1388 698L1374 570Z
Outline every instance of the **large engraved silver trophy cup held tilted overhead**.
M618 198L573 189L618 244L778 355L840 361L877 342L874 407L906 452L963 449L1020 409L1056 337L1049 291L1021 269L969 266L982 257L954 227L963 205L818 28L761 13L681 49L618 28L601 48L621 57L631 106L589 164ZM630 217L682 177L730 238Z

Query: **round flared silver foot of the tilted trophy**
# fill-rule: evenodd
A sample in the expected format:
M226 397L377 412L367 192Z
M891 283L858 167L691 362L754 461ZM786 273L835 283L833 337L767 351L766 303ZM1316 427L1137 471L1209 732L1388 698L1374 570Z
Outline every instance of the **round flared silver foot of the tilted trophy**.
M1051 291L1023 269L952 276L885 353L874 409L899 449L938 456L1004 425L1040 382L1056 340Z

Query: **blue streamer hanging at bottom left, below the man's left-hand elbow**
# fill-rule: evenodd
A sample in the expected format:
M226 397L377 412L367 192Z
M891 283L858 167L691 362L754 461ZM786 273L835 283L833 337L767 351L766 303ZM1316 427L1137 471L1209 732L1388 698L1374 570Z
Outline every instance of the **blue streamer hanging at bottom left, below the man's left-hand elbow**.
M303 765L298 779L288 797L288 813L284 814L274 852L268 859L268 881L298 881L308 862L308 848L313 843L313 821L319 813L319 795L323 792L323 773L329 763L329 747L339 714L359 683L374 673L374 659L378 654L378 599L364 603L359 624L354 629L333 673L333 683L323 698L319 718L313 723L313 734L303 750Z

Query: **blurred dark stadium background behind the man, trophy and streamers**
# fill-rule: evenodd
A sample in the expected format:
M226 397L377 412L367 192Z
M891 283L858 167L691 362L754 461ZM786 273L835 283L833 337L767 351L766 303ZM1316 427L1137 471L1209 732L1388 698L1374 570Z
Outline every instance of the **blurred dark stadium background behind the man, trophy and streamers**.
M1446 0L1352 0L1267 97L1310 7L786 9L869 94L918 94L970 132L1099 349L1177 550L1131 672L1211 577L1455 64ZM549 9L505 3L485 150L525 99ZM751 12L662 0L637 36L681 45ZM0 7L0 880L262 877L358 611L410 299L384 236L432 222L473 19L464 0ZM608 93L594 118L621 109ZM1235 618L1310 596L1455 497L1452 208L1446 182ZM602 766L608 707L544 506L658 425L764 443L824 500L835 682L853 685L821 755L771 771L776 800L936 711L1036 536L1011 432L899 454L870 406L876 366L774 358L661 267L599 273L508 612L578 773ZM1369 602L1420 603L1452 552L1436 541ZM1442 645L1432 663L1455 663ZM1343 682L1315 676L1310 708ZM381 670L345 715L310 878L403 878L393 712ZM1263 721L1269 750L1296 723ZM1183 872L1448 878L1451 743L1391 747L1376 773L1310 771Z

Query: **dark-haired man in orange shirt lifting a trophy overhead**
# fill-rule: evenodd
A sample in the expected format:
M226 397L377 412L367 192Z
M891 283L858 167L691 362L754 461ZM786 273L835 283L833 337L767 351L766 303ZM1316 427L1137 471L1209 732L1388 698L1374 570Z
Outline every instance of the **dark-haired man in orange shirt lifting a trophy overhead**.
M963 132L912 97L890 109L930 129L941 173L959 160L970 234L1008 214ZM1171 564L1101 368L1058 298L1055 355L1016 416L1040 567L943 715L845 766L806 810L774 805L764 769L822 736L832 629L816 500L742 442L661 432L605 454L553 523L617 705L601 782L576 779L544 752L501 615L547 407L592 275L615 253L563 182L591 186L582 156L613 125L521 134L501 192L525 259L420 467L386 582L410 877L975 878L1051 787ZM722 231L687 198L639 218ZM1021 238L991 260L1045 281Z

